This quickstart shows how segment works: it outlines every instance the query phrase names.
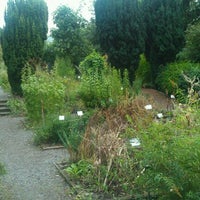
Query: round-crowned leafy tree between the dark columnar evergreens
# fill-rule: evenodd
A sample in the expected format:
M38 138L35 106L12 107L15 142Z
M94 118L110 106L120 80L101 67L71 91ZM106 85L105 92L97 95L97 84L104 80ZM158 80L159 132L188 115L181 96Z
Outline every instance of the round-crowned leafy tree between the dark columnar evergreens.
M52 30L56 51L68 57L73 65L79 65L91 52L91 44L85 35L87 23L69 7L60 6L54 14L57 28Z

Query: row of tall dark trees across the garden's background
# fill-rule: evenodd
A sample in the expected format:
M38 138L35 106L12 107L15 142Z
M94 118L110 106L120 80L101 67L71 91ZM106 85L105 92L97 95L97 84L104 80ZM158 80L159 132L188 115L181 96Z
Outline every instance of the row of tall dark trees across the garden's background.
M48 31L46 3L9 1L1 43L13 93L22 95L21 70L27 63L45 62L51 68L57 60L64 68L62 75L63 70L70 71L69 67L78 73L80 62L94 49L106 54L108 62L122 74L128 69L131 82L144 54L150 66L149 86L158 85L156 77L168 63L180 59L199 62L199 40L194 36L199 27L199 1L96 0L94 15L88 22L66 6L57 8L57 28L51 30L51 42L44 43Z

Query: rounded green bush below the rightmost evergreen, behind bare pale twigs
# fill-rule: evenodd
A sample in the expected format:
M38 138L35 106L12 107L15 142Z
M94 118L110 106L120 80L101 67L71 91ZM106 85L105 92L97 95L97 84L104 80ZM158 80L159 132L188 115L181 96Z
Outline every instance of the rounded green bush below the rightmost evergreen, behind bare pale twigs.
M183 95L186 95L188 83L184 80L183 73L190 77L199 77L200 66L190 62L167 65L157 77L158 88L168 94L176 94L177 89L181 89L183 90Z

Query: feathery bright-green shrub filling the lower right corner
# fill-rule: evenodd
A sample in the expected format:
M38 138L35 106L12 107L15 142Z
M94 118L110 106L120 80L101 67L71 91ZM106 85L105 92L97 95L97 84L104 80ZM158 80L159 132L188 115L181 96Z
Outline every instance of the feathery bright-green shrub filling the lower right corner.
M142 143L142 150L135 154L141 171L136 179L138 191L163 200L189 200L199 195L198 112L180 108L172 122L153 123L138 133Z

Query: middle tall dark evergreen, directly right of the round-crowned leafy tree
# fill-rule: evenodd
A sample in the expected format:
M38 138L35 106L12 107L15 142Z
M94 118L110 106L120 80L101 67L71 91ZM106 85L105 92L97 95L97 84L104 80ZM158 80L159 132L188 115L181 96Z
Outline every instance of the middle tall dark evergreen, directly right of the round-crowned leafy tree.
M133 79L144 50L144 25L139 0L96 0L95 16L100 46L111 64L127 68Z

